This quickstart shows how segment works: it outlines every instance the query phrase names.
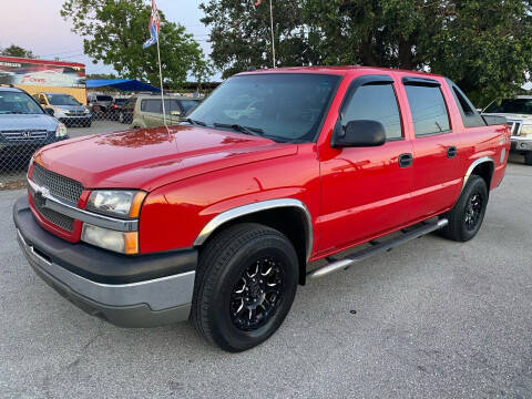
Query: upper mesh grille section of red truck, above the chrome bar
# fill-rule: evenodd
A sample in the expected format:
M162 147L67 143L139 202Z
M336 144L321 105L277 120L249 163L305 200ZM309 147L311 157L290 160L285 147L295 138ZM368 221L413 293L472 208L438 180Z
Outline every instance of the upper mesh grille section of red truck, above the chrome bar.
M80 182L49 171L37 162L33 163L31 180L38 185L47 187L53 196L70 201L75 205L83 192L83 186Z

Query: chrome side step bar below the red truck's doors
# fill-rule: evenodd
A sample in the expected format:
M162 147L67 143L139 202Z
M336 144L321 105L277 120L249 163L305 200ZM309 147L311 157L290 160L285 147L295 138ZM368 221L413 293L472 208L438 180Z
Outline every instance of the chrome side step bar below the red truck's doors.
M361 262L372 255L377 255L386 250L390 250L401 244L408 243L411 239L436 232L437 229L440 229L447 226L448 224L449 224L449 221L447 218L442 218L433 223L423 223L420 227L410 232L406 232L405 229L402 229L401 231L402 235L399 237L391 238L382 243L377 243L372 241L370 242L371 244L370 247L361 249L358 253L355 253L352 255L349 255L345 259L332 260L330 264L324 267L309 272L307 276L309 278L319 278L328 274L335 273L337 270L349 268L357 262Z

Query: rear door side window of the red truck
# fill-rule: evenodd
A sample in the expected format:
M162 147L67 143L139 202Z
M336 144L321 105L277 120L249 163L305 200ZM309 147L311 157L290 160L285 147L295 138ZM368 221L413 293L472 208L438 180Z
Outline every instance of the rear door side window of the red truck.
M408 84L405 85L405 90L417 137L451 131L449 113L439 85Z

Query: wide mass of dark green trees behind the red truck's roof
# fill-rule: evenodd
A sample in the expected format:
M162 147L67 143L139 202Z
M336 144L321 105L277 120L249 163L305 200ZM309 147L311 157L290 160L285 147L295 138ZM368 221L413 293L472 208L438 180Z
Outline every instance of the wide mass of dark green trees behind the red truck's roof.
M515 92L532 62L532 1L273 1L283 66L430 71L451 78L474 103L485 105ZM202 8L202 21L213 28L213 60L224 75L272 65L266 4L255 10L252 0L209 0ZM297 47L284 48L294 35Z

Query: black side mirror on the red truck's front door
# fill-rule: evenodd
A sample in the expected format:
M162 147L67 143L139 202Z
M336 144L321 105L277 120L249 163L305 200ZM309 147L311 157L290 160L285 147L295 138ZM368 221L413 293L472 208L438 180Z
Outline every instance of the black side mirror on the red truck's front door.
M379 146L386 143L386 131L382 123L377 121L350 121L344 132L332 136L331 146L339 147L365 147Z

